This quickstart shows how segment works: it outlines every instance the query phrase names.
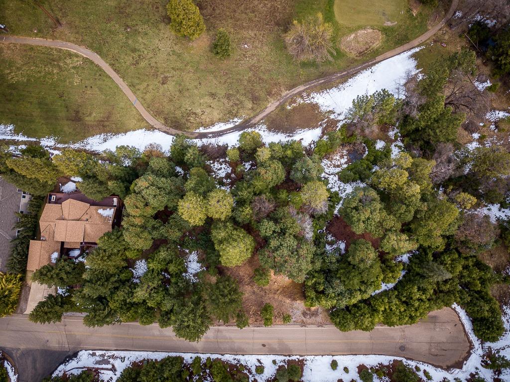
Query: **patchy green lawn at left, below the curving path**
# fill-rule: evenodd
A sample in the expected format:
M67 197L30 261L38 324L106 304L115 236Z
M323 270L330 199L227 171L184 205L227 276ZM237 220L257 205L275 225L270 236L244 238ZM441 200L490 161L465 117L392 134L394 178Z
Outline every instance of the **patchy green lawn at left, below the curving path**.
M68 142L149 127L117 85L88 59L35 46L2 45L0 123Z

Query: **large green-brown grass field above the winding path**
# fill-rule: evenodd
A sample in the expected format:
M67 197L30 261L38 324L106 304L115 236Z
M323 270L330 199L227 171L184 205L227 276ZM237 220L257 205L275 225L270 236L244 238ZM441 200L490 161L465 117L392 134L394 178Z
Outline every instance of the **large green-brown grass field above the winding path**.
M197 5L207 31L193 42L170 32L167 2L107 0L92 5L78 0L46 0L45 8L63 28L55 28L31 2L0 0L0 9L12 34L60 39L94 50L119 73L152 115L181 130L249 117L293 86L411 40L426 30L430 15L430 10L424 9L416 18L397 24L398 28L381 27L384 41L361 59L347 57L337 49L333 62L316 65L294 62L286 53L282 34L293 18L302 19L317 11L334 23L336 40L350 33L352 28L335 21L332 0L200 0ZM210 48L219 27L226 28L233 41L232 57L225 61L217 59ZM33 59L43 62L45 57L43 54ZM45 96L47 102L56 99L54 93ZM98 105L97 112L106 114L107 109L115 107L112 99ZM119 125L117 129L131 126Z

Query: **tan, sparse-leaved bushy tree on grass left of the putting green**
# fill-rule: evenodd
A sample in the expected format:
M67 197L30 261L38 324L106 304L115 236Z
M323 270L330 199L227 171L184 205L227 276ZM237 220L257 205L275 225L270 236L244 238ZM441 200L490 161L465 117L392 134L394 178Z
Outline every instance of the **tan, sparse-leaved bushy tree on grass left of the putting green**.
M317 13L303 22L294 20L284 37L287 50L295 60L323 62L333 60L332 35L331 24L324 22L322 14Z

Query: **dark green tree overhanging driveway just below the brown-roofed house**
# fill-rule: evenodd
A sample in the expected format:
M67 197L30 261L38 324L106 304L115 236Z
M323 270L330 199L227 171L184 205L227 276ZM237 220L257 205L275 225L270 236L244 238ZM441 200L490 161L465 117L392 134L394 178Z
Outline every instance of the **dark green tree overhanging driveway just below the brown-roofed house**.
M31 279L50 287L66 288L70 285L80 284L83 272L85 272L84 263L60 259L55 266L47 264L37 269Z

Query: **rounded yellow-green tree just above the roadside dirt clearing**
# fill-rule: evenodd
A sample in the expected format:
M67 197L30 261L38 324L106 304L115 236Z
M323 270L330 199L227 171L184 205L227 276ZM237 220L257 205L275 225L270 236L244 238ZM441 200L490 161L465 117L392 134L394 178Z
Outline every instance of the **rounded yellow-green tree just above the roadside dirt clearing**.
M215 222L211 228L211 239L225 267L241 265L250 258L255 248L253 238L230 221Z

